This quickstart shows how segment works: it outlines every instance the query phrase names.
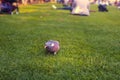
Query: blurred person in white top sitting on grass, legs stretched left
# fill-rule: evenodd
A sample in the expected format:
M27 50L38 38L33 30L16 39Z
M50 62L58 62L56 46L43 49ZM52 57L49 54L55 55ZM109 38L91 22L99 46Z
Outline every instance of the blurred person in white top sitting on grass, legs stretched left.
M65 0L63 8L57 8L52 5L54 9L70 10L73 15L89 16L90 15L90 2L89 0Z

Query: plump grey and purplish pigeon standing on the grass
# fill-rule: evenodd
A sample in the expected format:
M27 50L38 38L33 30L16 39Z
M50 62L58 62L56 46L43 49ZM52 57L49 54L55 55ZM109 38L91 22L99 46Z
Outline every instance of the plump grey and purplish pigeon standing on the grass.
M45 43L45 49L49 53L56 54L60 49L59 42L55 40L49 40Z

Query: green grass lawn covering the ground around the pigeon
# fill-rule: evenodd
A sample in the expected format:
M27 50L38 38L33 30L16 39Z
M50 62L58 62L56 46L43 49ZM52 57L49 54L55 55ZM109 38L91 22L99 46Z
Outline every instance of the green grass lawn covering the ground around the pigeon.
M108 9L91 5L83 17L41 4L0 15L0 80L120 80L120 11ZM45 54L48 40L60 42L57 55Z

